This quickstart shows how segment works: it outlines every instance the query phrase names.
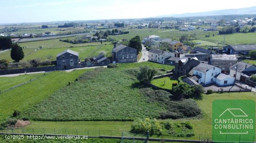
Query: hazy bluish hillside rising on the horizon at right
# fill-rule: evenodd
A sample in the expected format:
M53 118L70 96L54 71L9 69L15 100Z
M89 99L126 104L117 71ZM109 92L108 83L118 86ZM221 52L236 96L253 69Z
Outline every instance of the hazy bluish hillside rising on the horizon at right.
M195 16L213 16L213 15L237 15L237 14L256 14L256 6L253 7L245 7L238 9L224 9L217 11L209 11L209 12L195 12L195 13L182 13L182 14L168 14L161 15L158 17L195 17Z

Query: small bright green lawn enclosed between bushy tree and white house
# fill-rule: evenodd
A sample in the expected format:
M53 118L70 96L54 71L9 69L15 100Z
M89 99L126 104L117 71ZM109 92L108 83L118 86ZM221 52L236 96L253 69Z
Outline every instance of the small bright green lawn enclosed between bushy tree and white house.
M178 83L178 81L172 80L169 77L163 77L160 79L155 79L155 80L151 81L151 83L154 84L155 86L158 86L161 88L172 89L172 84Z

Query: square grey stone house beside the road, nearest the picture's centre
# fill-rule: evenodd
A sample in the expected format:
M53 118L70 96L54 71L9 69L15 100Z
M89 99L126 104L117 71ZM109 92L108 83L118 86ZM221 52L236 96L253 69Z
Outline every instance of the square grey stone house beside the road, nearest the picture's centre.
M125 45L120 44L112 49L113 63L128 63L137 62L137 50Z

